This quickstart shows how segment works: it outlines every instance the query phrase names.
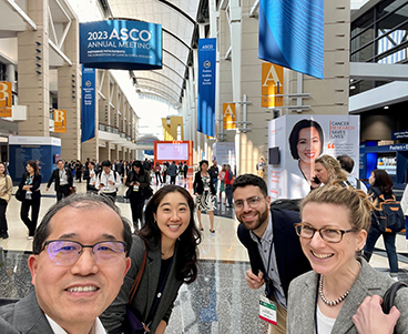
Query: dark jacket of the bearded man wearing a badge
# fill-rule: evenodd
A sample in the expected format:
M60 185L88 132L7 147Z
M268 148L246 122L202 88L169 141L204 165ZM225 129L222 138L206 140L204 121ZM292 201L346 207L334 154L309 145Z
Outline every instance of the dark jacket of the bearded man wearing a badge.
M294 224L300 222L298 212L287 210L271 210L272 226L274 233L274 244L276 252L277 271L279 273L282 287L287 300L287 291L293 279L310 270L310 264L304 255L299 236L295 232ZM251 269L254 274L258 271L265 273L257 243L249 235L249 231L243 224L238 226L238 239L247 249ZM265 265L267 265L265 263ZM273 293L274 286L269 284L269 291Z

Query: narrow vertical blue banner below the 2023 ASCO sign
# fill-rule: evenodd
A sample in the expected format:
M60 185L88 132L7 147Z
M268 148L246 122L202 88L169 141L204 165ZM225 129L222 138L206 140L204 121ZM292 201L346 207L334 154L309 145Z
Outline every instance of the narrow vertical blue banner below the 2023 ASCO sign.
M95 136L95 69L82 67L81 142Z

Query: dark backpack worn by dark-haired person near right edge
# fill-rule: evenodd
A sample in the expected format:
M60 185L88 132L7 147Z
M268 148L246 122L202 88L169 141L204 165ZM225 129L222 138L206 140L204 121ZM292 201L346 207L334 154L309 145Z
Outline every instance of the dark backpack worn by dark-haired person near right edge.
M377 189L373 190L378 195ZM384 194L378 196L379 210L377 210L377 217L379 223L379 230L387 233L397 233L405 230L405 217L401 205L396 201L395 195L391 199L385 199Z

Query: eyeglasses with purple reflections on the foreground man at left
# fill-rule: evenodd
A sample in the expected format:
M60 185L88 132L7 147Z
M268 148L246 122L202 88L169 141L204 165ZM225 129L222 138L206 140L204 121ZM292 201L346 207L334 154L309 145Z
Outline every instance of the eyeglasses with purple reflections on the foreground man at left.
M126 244L122 241L101 241L94 245L83 245L71 240L50 240L45 241L41 252L44 249L47 249L50 260L57 265L74 264L80 259L83 249L92 249L92 255L96 263L112 264L123 257Z

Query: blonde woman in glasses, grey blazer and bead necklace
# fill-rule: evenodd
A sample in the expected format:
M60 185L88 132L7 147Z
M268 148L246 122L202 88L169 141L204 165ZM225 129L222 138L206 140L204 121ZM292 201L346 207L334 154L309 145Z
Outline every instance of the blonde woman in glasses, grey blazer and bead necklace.
M289 285L288 334L407 333L408 289L398 291L384 314L381 298L395 282L360 256L373 209L365 192L339 184L303 200L295 229L313 271Z

